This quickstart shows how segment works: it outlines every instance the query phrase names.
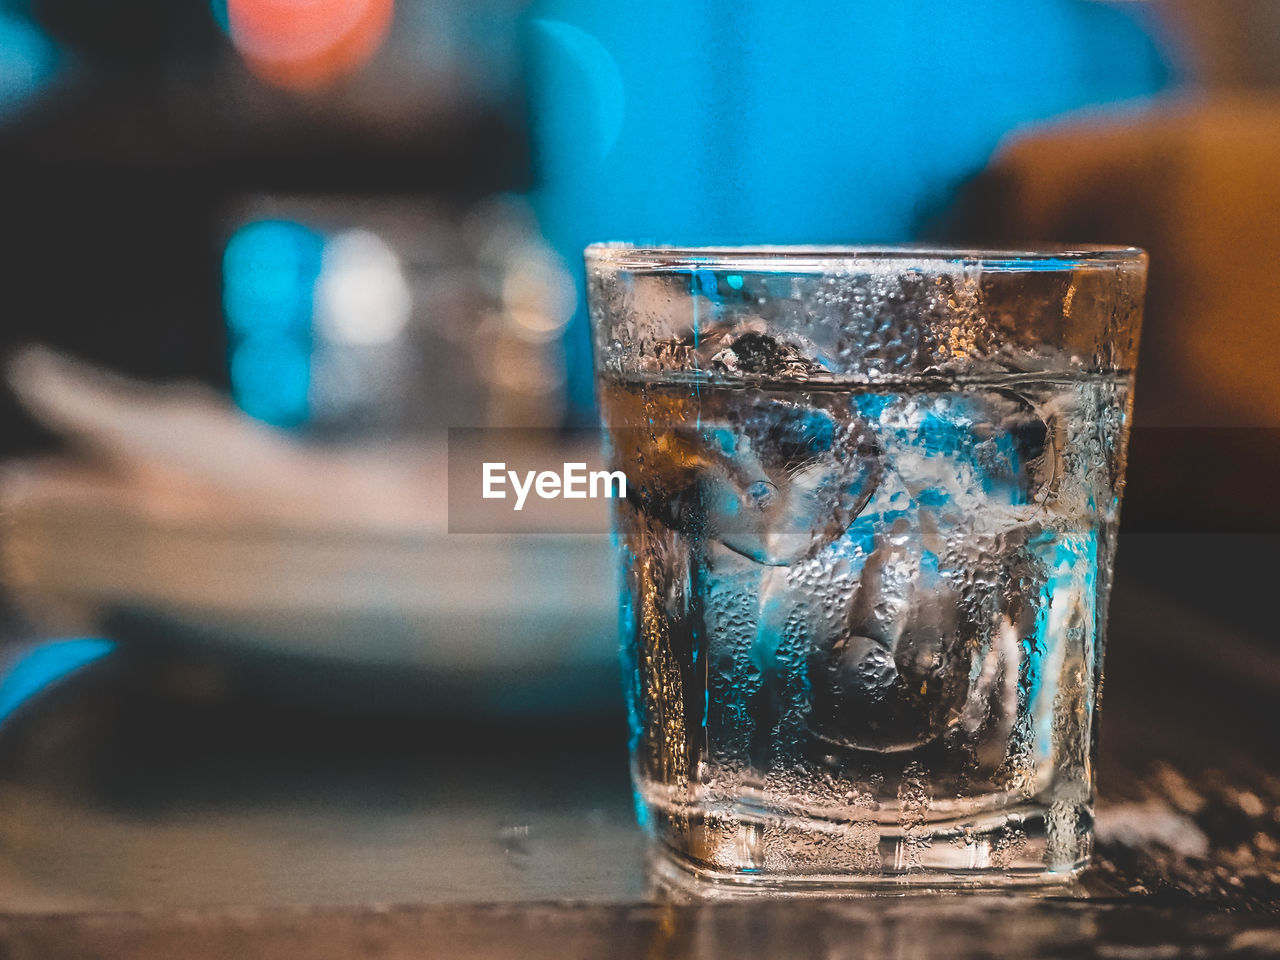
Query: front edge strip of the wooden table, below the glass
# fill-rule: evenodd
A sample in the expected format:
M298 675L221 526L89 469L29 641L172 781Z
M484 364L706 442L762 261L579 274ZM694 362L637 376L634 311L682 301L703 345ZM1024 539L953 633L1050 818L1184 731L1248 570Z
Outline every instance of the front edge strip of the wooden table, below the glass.
M1275 915L998 897L416 906L0 919L13 960L97 957L1266 957Z

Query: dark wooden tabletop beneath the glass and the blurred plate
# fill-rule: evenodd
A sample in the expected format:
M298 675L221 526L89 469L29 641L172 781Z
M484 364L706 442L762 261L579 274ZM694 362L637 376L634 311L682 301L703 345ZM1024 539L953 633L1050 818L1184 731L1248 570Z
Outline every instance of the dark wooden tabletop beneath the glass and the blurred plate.
M0 719L0 956L1280 954L1277 545L1123 539L1069 888L694 900L650 879L621 709L433 712L301 664L282 700L122 645Z

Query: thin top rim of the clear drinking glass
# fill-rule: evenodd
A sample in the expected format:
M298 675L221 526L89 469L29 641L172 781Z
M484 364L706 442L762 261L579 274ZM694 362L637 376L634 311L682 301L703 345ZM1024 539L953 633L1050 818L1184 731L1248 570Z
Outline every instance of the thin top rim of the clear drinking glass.
M744 270L849 271L859 265L915 262L937 268L980 268L996 271L1079 270L1087 268L1146 266L1147 251L1108 243L1044 243L1034 247L963 247L945 244L883 243L660 246L623 242L591 243L582 256L589 265L626 270L685 270L718 268Z

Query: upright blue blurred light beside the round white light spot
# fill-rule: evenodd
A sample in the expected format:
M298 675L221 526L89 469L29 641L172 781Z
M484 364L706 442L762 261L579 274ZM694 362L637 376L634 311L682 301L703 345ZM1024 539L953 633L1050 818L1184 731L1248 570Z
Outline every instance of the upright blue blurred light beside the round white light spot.
M288 220L242 227L223 253L232 394L250 416L298 426L310 413L312 289L324 238Z

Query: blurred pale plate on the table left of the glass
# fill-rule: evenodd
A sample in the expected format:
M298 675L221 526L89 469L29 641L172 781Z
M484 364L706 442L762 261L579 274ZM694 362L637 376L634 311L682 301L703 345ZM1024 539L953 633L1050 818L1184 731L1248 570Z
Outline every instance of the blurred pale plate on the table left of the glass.
M260 653L526 680L616 664L607 535L219 517L56 465L10 467L3 492L6 584L51 631L151 618Z

